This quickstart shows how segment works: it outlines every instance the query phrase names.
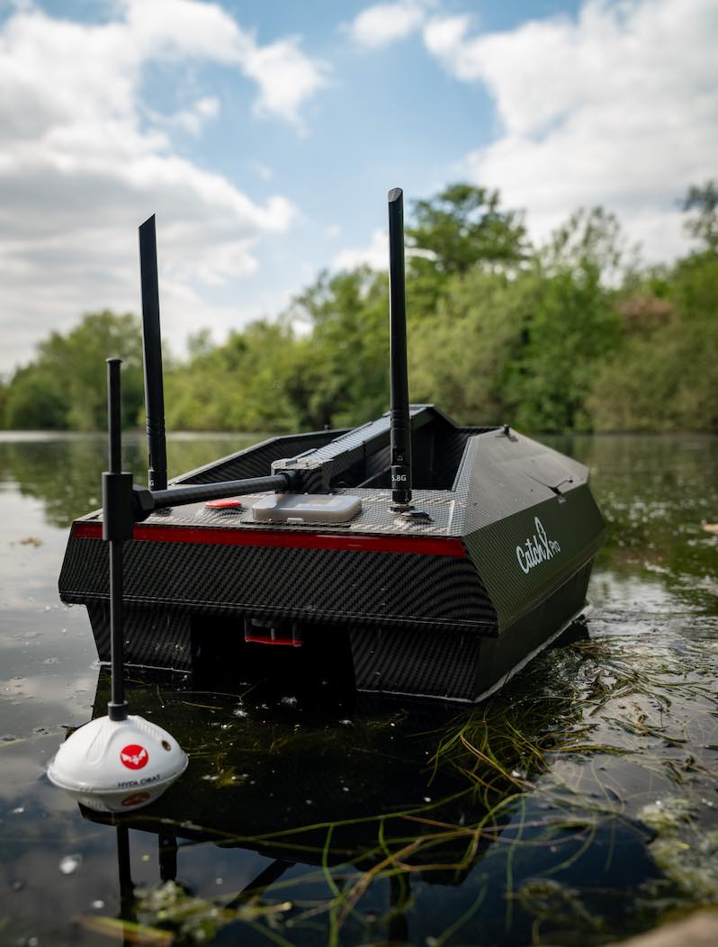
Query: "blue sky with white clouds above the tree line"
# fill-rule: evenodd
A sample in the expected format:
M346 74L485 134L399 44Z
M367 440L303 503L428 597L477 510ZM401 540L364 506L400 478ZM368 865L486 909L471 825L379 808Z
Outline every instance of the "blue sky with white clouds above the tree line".
M648 262L718 177L715 0L0 0L0 373L83 313L164 340L386 267L386 195L498 188L534 240L604 205Z

